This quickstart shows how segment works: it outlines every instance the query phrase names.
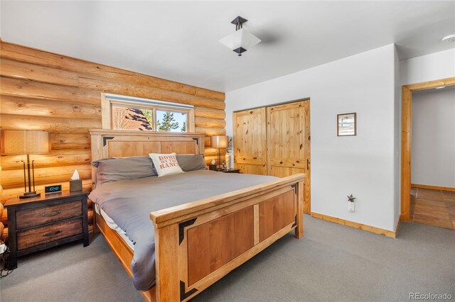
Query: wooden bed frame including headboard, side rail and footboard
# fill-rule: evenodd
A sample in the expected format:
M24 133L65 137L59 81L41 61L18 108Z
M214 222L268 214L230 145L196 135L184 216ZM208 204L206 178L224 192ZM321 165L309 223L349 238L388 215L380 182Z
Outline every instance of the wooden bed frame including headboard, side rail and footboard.
M149 152L203 154L204 135L90 130L92 160ZM95 180L95 168L93 170ZM146 301L188 301L295 230L304 235L305 174L269 181L150 213L155 226L156 286ZM132 276L133 250L96 215L97 229Z

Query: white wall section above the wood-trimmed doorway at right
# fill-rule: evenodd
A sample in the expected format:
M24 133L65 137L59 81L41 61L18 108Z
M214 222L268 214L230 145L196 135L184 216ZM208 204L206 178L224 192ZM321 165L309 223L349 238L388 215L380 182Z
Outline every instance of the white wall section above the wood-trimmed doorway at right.
M455 77L455 48L400 62L402 85Z

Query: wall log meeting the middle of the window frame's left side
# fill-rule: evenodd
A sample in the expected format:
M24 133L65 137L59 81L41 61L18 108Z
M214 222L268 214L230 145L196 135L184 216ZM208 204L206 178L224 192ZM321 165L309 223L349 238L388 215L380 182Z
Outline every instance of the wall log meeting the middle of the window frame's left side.
M50 116L54 118L101 118L101 106L0 96L1 113L21 116Z

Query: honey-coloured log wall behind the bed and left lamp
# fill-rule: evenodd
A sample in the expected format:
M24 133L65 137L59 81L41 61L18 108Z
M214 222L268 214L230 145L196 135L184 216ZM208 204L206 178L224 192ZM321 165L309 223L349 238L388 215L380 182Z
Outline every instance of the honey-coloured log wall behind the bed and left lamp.
M0 42L0 128L46 130L52 152L34 155L37 189L63 184L74 170L90 188L90 135L101 128L101 94L112 93L195 106L196 132L225 135L225 94L124 69ZM217 150L205 140L205 160ZM1 203L23 192L22 156L0 157Z

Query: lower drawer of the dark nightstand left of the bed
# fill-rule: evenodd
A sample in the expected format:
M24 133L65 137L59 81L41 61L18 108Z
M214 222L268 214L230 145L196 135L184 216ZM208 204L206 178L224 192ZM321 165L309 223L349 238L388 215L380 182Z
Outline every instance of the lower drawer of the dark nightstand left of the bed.
M25 250L77 234L82 234L82 218L24 230L17 233L17 250Z

